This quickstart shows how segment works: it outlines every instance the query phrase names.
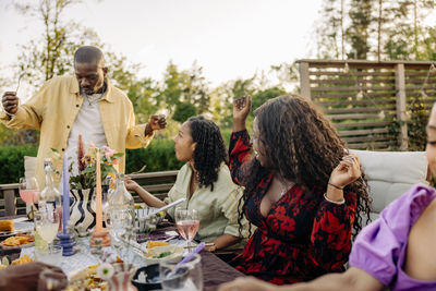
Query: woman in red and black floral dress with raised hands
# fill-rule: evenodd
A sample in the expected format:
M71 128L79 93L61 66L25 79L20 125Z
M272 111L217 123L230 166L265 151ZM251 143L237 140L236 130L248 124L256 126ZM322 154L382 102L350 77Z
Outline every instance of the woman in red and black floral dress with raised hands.
M250 97L233 104L229 168L245 186L239 217L257 229L231 264L276 284L342 271L352 229L362 228L360 213L370 213L359 159L300 96L277 97L255 110L253 143L245 128L250 108Z

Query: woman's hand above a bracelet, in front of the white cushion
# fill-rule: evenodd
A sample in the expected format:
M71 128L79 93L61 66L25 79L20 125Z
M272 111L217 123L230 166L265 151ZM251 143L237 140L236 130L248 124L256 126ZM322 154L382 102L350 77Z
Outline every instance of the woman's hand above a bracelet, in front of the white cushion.
M343 189L362 175L361 162L354 154L344 156L339 165L334 169L328 181L337 187Z

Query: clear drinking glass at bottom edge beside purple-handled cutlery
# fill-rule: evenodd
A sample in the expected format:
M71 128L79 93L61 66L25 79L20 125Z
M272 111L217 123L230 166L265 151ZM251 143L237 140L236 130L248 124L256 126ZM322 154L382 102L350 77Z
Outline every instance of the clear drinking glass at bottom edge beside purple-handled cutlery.
M172 290L203 290L202 257L195 254L193 259L175 269L178 263L161 262L159 278L165 291Z

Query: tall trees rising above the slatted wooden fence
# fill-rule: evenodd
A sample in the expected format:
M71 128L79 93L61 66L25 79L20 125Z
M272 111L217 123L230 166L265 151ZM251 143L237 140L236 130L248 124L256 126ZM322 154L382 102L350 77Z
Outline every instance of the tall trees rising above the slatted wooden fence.
M337 59L339 41L344 41L348 59L432 60L435 26L426 20L435 4L435 0L324 0L318 57Z

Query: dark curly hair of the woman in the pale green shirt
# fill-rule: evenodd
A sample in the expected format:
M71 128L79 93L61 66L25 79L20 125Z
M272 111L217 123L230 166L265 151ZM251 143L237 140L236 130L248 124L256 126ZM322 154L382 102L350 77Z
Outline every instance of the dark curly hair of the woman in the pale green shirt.
M198 172L198 186L209 186L218 180L222 162L228 163L226 144L217 124L204 117L187 120L192 140L197 143L194 149L194 168Z

